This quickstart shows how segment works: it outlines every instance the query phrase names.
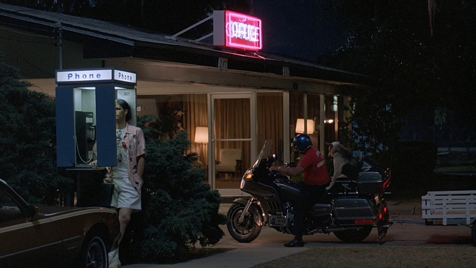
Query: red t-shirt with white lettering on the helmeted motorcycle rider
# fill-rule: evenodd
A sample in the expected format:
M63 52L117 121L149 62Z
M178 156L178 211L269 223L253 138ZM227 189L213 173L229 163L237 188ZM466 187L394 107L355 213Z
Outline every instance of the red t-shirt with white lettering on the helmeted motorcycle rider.
M304 152L299 166L304 167L302 178L307 185L325 185L329 183L330 179L324 157L316 149L309 148Z

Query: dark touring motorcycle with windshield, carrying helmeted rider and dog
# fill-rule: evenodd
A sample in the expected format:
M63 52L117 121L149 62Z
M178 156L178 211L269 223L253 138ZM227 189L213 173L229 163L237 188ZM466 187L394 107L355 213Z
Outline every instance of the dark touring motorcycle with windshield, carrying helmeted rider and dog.
M227 229L239 242L251 242L263 226L292 234L293 206L300 195L297 183L269 167L277 161L270 155L272 140L265 141L256 162L242 177L240 188L251 195L238 198L228 209ZM384 200L390 185L391 171L380 168L369 160L359 161L359 172L354 178L339 178L325 196L308 211L304 234L330 234L347 243L364 240L378 229L382 239L392 225Z

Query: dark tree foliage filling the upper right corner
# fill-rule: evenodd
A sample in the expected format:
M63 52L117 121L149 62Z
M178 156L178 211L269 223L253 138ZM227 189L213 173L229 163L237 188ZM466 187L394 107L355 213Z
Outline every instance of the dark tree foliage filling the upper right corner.
M369 75L375 86L355 93L347 107L354 137L366 141L360 149L391 148L400 125L433 125L436 107L452 111L455 123L476 126L468 113L476 99L474 1L437 0L433 36L426 1L332 2L348 39L320 63Z

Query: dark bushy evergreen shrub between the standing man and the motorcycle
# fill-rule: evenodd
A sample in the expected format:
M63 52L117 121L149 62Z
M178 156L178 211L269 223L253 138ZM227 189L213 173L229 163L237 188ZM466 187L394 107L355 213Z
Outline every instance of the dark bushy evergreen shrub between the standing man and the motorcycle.
M227 218L219 213L218 191L203 183L203 169L192 166L196 153L185 154L190 148L187 133L159 139L165 133L159 130L160 119L152 115L140 118L138 125L144 130L147 144L143 212L134 229L138 237L128 246L122 242L121 254L127 254L129 260L167 262L196 243L218 243L224 235L220 225Z

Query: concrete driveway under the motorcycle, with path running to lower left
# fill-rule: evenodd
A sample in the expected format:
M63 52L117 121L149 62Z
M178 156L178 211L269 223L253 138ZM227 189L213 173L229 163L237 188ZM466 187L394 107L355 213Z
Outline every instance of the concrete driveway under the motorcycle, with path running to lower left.
M421 219L421 201L387 201L393 226L380 241L377 230L361 244L362 246L414 246L432 244L471 244L471 228L467 226L426 226ZM230 204L223 203L220 212L226 214ZM263 227L261 234L250 243L234 240L226 226L222 226L224 237L211 248L232 248L224 253L173 265L134 264L123 268L252 268L279 258L295 254L312 247L348 246L333 234L314 234L303 237L304 247L286 248L284 243L292 239L290 234L282 234L269 227Z

